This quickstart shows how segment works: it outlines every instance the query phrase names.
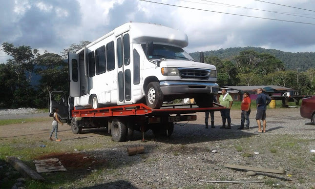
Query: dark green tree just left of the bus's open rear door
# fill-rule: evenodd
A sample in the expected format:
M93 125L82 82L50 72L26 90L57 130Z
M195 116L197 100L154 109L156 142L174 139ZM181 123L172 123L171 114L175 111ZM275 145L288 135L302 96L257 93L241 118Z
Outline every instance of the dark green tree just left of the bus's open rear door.
M36 73L41 76L39 91L34 102L38 107L47 107L48 93L51 90L68 91L68 64L60 55L45 51L37 59L39 68Z

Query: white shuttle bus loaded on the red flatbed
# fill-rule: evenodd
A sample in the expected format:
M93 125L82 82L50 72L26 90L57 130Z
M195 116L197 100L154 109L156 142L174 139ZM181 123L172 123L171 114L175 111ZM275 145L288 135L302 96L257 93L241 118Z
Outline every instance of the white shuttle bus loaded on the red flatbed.
M212 105L216 68L183 50L185 33L158 24L126 23L76 53L68 53L70 96L75 106L98 108L194 98Z

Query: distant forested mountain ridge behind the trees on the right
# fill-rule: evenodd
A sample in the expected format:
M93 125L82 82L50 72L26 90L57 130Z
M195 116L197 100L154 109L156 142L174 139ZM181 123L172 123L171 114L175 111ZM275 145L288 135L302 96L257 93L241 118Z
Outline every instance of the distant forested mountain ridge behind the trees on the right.
M204 52L205 56L217 56L219 59L228 59L234 62L235 56L239 55L241 51L254 50L258 53L268 53L275 56L284 63L286 69L300 68L299 71L305 71L309 68L315 67L315 52L291 53L283 52L276 49L265 49L261 47L233 47L227 49L219 49ZM200 60L200 53L190 53L190 56L196 60Z

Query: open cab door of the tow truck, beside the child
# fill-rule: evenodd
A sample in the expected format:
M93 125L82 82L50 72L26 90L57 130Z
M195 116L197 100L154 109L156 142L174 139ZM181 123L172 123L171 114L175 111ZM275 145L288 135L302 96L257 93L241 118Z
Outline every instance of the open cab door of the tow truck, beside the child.
M69 119L68 104L62 91L49 91L49 116L53 117L53 108L58 108L62 123Z

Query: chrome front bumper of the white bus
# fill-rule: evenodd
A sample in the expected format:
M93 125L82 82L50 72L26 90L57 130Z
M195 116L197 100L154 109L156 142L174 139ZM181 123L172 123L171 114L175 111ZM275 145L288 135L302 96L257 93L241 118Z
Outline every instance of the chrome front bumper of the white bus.
M160 82L164 95L180 94L217 94L219 85L208 82Z

